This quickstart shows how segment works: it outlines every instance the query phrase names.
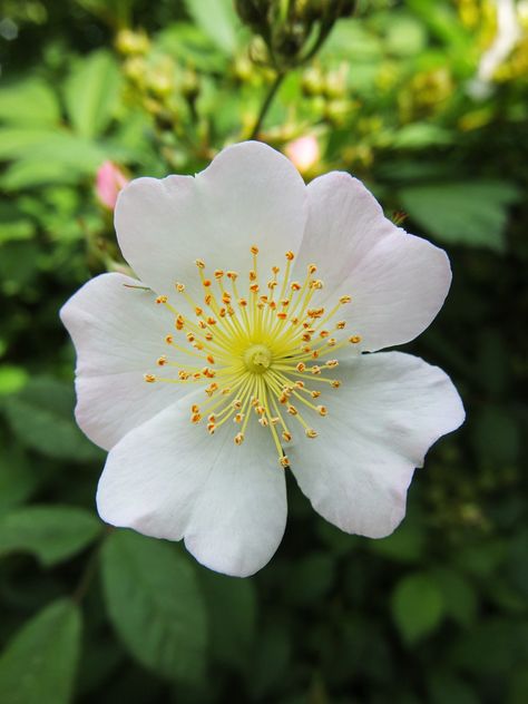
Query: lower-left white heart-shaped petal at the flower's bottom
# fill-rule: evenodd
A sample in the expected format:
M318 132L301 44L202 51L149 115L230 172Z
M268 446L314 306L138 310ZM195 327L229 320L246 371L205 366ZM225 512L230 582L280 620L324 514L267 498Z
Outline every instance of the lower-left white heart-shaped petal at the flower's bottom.
M233 423L232 423L233 426ZM97 506L104 520L179 540L196 559L246 577L271 559L286 522L284 471L270 432L250 423L207 434L180 402L126 436L109 453Z

